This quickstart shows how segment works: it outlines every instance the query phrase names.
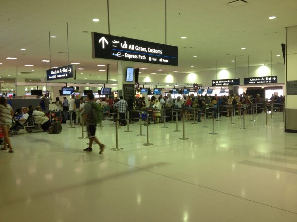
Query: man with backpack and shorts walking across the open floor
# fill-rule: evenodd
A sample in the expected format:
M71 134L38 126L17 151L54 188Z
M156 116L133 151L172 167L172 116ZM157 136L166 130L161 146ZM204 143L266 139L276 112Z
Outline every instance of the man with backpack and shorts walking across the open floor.
M102 120L102 113L100 112L102 112L102 110L99 107L99 105L94 102L93 93L88 93L87 103L85 104L83 110L84 120L87 126L89 138L89 147L84 149L84 151L86 152L92 152L93 141L95 141L95 143L97 143L100 146L100 154L104 151L105 145L100 143L97 137L95 136L96 124L100 123L100 121Z

